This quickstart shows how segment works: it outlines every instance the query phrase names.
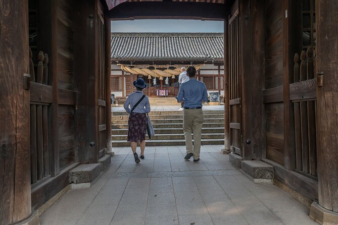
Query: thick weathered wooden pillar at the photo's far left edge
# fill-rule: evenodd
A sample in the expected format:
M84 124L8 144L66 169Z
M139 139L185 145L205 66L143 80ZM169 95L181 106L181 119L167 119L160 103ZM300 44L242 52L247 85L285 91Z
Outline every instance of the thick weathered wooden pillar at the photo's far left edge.
M0 223L10 224L31 215L28 1L1 1L0 15Z

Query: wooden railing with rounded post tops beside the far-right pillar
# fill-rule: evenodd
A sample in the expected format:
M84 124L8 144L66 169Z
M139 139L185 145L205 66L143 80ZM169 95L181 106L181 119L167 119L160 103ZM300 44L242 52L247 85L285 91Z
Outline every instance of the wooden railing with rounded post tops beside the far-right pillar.
M316 149L316 80L314 79L314 51L296 53L294 83L289 85L289 98L294 104L296 172L317 176Z

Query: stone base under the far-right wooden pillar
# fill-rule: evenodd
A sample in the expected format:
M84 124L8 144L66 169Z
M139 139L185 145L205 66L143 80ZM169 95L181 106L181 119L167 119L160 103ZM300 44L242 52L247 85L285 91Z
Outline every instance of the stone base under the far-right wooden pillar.
M317 200L311 204L310 218L324 225L338 224L338 213L321 207Z

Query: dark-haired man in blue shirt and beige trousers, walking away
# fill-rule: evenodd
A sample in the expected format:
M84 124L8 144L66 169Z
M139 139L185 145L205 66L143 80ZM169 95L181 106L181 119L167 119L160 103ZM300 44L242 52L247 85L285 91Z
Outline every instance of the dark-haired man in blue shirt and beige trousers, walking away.
M182 83L176 97L177 102L184 102L183 131L186 146L185 159L194 156L194 162L200 160L201 136L203 126L202 102L208 101L206 85L195 79L195 67L188 67L186 73L189 81ZM192 146L191 133L194 133L194 146ZM194 147L194 150L192 149Z

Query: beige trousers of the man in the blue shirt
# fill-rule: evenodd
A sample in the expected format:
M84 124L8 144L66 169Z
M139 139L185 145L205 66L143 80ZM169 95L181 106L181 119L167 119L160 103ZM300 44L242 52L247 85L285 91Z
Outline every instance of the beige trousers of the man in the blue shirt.
M203 122L202 108L183 110L183 132L186 153L193 153L194 159L200 157ZM194 133L194 147L192 147L191 133Z

